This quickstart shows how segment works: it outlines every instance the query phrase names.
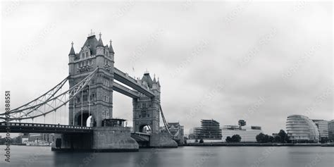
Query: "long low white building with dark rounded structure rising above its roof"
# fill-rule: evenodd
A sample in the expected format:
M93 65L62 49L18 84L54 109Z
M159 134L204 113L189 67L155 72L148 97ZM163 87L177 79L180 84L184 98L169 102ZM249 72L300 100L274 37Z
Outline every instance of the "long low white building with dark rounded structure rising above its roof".
M224 125L221 130L225 141L226 137L232 137L233 135L240 135L240 142L256 142L256 135L259 135L262 130L261 126L245 126L245 120L239 120L238 125Z

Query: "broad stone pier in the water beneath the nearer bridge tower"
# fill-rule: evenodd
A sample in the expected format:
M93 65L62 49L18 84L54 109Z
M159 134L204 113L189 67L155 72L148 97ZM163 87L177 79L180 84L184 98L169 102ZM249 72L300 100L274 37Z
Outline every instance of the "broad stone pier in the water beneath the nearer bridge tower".
M57 140L61 141L57 144ZM52 151L138 151L127 127L94 127L92 133L56 134Z

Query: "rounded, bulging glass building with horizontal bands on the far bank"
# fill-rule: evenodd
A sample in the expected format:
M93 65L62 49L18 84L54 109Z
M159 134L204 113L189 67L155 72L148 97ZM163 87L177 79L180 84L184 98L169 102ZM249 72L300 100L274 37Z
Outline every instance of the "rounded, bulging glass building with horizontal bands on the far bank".
M292 142L318 142L319 131L316 123L307 116L287 116L287 137Z

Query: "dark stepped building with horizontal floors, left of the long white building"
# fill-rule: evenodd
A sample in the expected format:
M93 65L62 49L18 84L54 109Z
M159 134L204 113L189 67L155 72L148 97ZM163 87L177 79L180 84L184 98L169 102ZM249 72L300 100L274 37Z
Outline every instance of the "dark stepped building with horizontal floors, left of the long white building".
M221 140L221 128L216 120L201 120L201 128L194 128L196 139Z

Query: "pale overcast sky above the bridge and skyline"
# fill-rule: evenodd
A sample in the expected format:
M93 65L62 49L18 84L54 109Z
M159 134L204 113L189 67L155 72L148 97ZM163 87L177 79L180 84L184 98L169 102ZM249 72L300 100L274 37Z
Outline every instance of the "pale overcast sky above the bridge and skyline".
M166 119L186 133L211 118L221 126L245 119L269 134L285 129L290 114L333 119L331 2L8 2L1 9L1 92L11 90L12 106L63 80L70 43L78 52L92 29L104 44L112 39L117 68L159 77ZM115 92L113 116L132 120L132 99Z

